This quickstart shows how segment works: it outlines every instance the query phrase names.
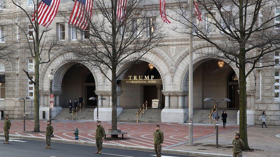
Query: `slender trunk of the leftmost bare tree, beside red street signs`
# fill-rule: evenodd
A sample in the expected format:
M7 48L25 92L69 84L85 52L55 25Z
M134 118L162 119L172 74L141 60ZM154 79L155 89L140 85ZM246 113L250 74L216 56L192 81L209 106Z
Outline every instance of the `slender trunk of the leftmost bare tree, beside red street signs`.
M35 88L34 88L34 132L40 132L39 122L39 43L36 44L35 52Z

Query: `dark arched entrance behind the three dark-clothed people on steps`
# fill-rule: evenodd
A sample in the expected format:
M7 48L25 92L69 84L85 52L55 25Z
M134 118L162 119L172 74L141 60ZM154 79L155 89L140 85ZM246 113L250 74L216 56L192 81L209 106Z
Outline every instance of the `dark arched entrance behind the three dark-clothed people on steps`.
M61 107L67 107L69 100L79 100L79 95L85 101L85 107L96 106L96 101L88 101L90 97L96 97L94 76L91 71L80 63L71 66L64 74L61 82L61 95L59 104Z

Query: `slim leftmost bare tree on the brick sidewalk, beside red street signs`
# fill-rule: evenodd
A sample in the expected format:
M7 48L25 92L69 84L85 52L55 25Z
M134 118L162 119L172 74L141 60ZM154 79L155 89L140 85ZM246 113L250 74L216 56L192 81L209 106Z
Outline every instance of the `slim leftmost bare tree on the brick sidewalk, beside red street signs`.
M12 0L13 4L21 9L20 12L15 13L12 17L14 23L16 23L20 32L23 34L21 42L25 42L22 47L23 50L30 51L30 55L34 58L34 78L26 73L28 79L34 84L34 132L40 132L39 124L39 65L50 62L50 54L57 50L59 43L57 42L56 36L50 33L52 28L45 28L38 25L38 12L34 15L36 18L32 21L32 17L35 10L38 10L40 1L33 1L33 10L24 9L22 4L24 1ZM26 1L25 1L26 2ZM28 21L26 23L26 21ZM42 29L42 30L40 30ZM43 53L47 53L46 58L42 57Z

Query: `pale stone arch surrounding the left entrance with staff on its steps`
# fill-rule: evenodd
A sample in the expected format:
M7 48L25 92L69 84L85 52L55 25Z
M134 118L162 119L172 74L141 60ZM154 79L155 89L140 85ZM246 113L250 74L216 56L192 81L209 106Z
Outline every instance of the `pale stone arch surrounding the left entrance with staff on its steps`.
M48 91L49 88L49 79L48 79L48 74L51 72L51 69L53 69L54 72L54 80L53 80L53 90L54 91L60 91L59 86L61 88L61 82L63 79L64 74L66 71L73 65L80 63L82 65L85 65L93 74L94 79L96 81L96 89L98 89L98 86L102 85L103 77L100 74L100 72L90 66L87 63L81 62L81 61L73 61L73 54L71 53L64 53L64 54L59 54L57 56L52 57L53 59L46 63L44 67L42 67L42 70L40 72L40 81L39 81L39 88L43 91ZM72 60L72 61L71 61Z

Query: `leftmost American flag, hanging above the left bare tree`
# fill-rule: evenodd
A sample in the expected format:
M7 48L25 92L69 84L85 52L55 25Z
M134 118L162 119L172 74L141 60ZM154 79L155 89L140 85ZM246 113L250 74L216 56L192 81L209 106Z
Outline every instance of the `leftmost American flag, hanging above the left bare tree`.
M59 4L60 0L42 0L38 7L38 24L48 27L57 15ZM33 14L32 21L36 19L36 12L37 10Z

